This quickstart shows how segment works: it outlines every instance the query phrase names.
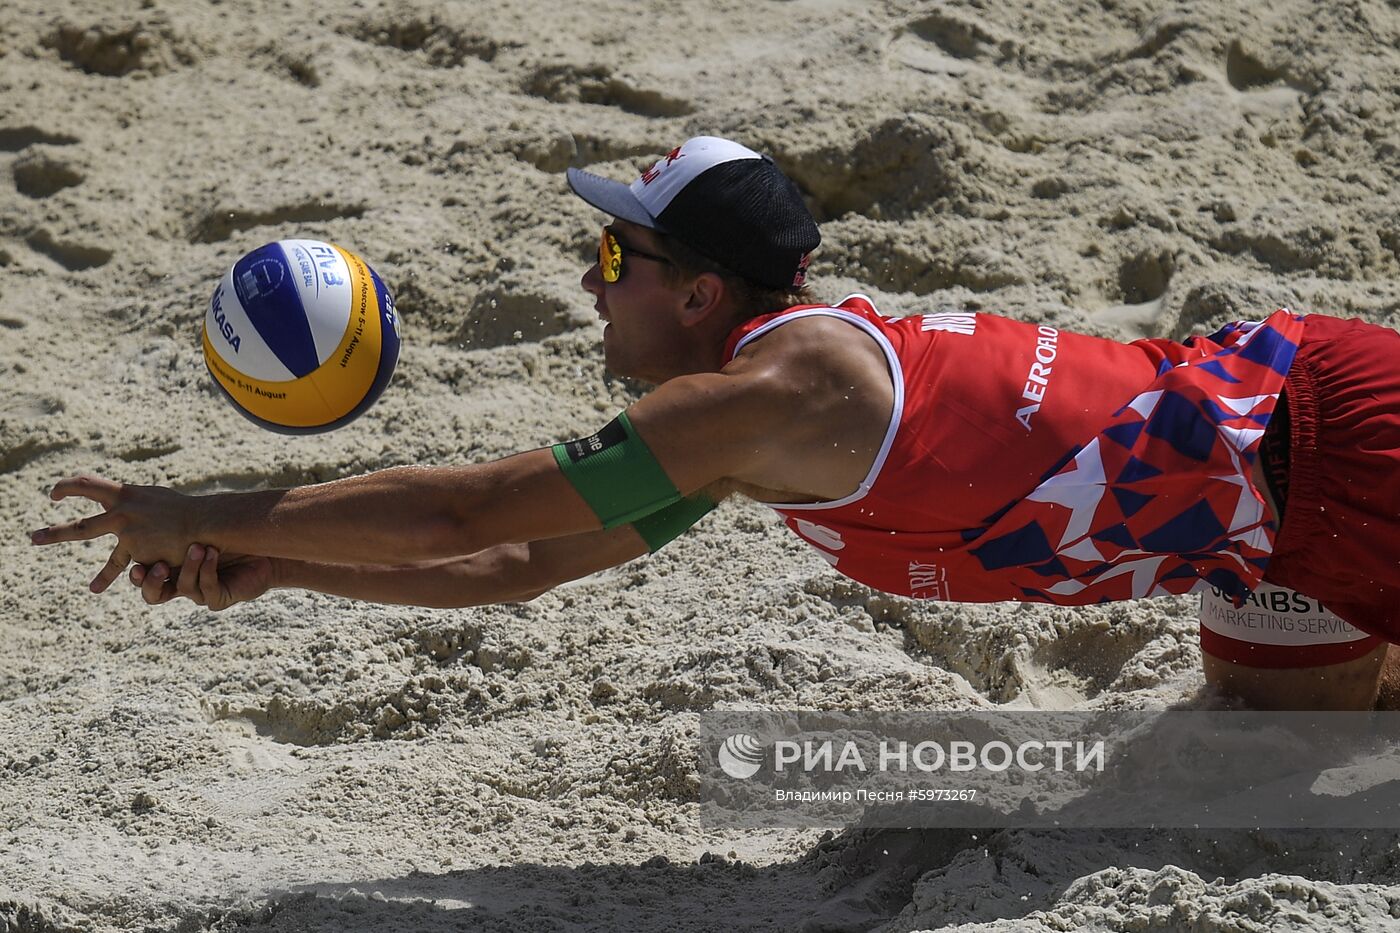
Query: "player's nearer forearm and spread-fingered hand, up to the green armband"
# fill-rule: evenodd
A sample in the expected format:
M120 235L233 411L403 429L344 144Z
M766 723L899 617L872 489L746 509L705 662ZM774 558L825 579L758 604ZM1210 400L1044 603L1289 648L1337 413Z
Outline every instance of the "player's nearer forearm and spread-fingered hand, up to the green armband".
M55 485L50 497L104 511L42 528L36 545L116 535L92 580L106 590L130 562L182 563L190 545L225 553L364 565L476 553L497 544L592 531L598 517L549 450L472 466L396 466L315 486L186 496L99 476Z

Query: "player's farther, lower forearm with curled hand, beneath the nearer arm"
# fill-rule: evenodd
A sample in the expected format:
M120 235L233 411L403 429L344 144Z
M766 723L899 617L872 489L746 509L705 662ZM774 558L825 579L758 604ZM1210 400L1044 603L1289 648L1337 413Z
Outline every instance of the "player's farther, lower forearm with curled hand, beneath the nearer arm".
M318 563L284 558L224 558L193 545L171 573L164 562L132 569L132 584L150 604L185 597L218 612L272 588L329 593L370 602L458 608L525 602L560 583L647 553L630 525L564 538L505 544L465 558L417 565Z

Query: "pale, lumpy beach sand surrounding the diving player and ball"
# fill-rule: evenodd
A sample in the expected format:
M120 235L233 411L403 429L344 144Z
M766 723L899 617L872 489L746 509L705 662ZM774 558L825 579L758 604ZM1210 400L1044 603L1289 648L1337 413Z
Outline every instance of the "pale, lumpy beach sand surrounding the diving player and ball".
M822 297L1184 336L1400 319L1400 13L1301 0L7 0L0 15L0 930L1400 929L1394 832L713 832L715 709L1200 707L1194 608L921 605L727 503L521 607L94 597L36 551L78 471L186 492L479 462L637 398L577 280L697 133L811 196ZM204 373L281 237L399 297L350 427Z

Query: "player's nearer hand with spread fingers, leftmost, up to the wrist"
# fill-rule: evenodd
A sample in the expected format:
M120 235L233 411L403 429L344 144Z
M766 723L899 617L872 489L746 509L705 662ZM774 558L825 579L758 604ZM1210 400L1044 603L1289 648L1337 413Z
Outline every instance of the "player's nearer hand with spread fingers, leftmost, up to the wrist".
M162 486L119 483L101 476L71 476L59 481L49 493L49 499L55 502L70 496L91 499L104 511L41 528L29 535L29 541L50 545L116 535L112 555L88 584L92 593L102 593L112 586L132 560L147 566L157 562L174 566L183 560L186 549L193 544L190 528L195 496Z

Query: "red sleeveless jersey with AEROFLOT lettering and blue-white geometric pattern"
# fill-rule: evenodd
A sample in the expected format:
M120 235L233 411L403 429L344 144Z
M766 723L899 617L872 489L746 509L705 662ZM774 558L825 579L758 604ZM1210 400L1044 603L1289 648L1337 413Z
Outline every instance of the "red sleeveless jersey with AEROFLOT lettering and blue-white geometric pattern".
M843 574L916 598L1242 598L1274 527L1249 474L1302 331L1288 311L1186 343L990 314L886 318L864 296L745 322L725 360L809 315L883 350L895 405L860 488L770 503Z

